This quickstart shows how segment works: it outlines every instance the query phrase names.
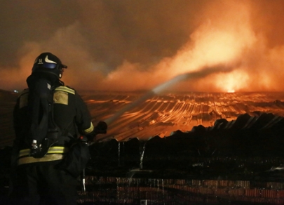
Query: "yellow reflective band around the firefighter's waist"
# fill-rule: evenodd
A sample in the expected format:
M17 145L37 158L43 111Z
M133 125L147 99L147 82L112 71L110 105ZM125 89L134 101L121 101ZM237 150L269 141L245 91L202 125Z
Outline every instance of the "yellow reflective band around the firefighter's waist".
M55 161L63 159L63 154L68 152L67 147L49 147L48 152L44 157L34 158L30 156L31 149L20 150L18 165L20 164L29 164L35 162L43 162L43 161Z

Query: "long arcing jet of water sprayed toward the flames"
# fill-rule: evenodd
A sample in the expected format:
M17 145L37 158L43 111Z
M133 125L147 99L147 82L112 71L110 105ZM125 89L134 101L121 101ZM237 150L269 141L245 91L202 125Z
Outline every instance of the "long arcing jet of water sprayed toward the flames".
M223 66L220 65L216 67L205 67L195 72L188 72L188 73L180 74L174 77L173 79L170 79L169 81L166 81L165 83L156 86L148 93L142 95L141 98L138 98L134 102L128 104L126 107L123 107L123 109L119 110L119 112L116 112L112 117L109 117L108 119L106 119L105 122L108 125L113 123L114 121L116 121L116 119L121 117L123 113L127 112L128 110L133 109L134 107L137 107L137 105L140 105L140 103L151 98L153 95L161 93L162 91L165 91L165 89L170 88L171 86L174 86L180 81L185 81L189 79L201 79L213 73L230 72L231 70L233 70L232 67L228 68L228 67L224 67L224 65Z

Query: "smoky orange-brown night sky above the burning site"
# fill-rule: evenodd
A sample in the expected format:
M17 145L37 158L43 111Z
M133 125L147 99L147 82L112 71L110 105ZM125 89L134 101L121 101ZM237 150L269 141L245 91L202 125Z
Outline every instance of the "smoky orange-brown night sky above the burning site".
M25 88L51 52L79 89L151 89L178 74L179 91L284 91L283 0L11 0L0 3L0 88Z

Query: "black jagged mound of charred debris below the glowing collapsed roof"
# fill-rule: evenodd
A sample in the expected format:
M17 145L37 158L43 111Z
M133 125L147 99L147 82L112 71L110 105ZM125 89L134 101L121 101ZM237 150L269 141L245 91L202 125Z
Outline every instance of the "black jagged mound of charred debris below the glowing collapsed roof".
M164 138L103 140L90 147L90 173L126 175L130 168L140 168L152 170L151 174L156 171L155 177L167 178L167 170L171 170L170 175L175 170L177 178L214 178L221 173L234 178L246 170L253 178L255 174L272 171L273 164L284 163L283 127L284 118L274 114L242 114L234 121L220 119L214 126L194 126L191 131L175 131Z

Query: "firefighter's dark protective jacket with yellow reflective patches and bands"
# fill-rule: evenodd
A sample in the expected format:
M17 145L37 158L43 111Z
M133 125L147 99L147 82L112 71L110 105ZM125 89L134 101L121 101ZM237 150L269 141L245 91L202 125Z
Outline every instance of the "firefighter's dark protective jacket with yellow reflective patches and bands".
M61 135L46 156L38 159L31 157L31 143L27 140L32 124L28 99L29 88L20 93L13 112L15 144L19 150L18 164L62 159L80 135L93 134L90 112L81 96L73 88L58 86L53 89L53 119L60 128Z

